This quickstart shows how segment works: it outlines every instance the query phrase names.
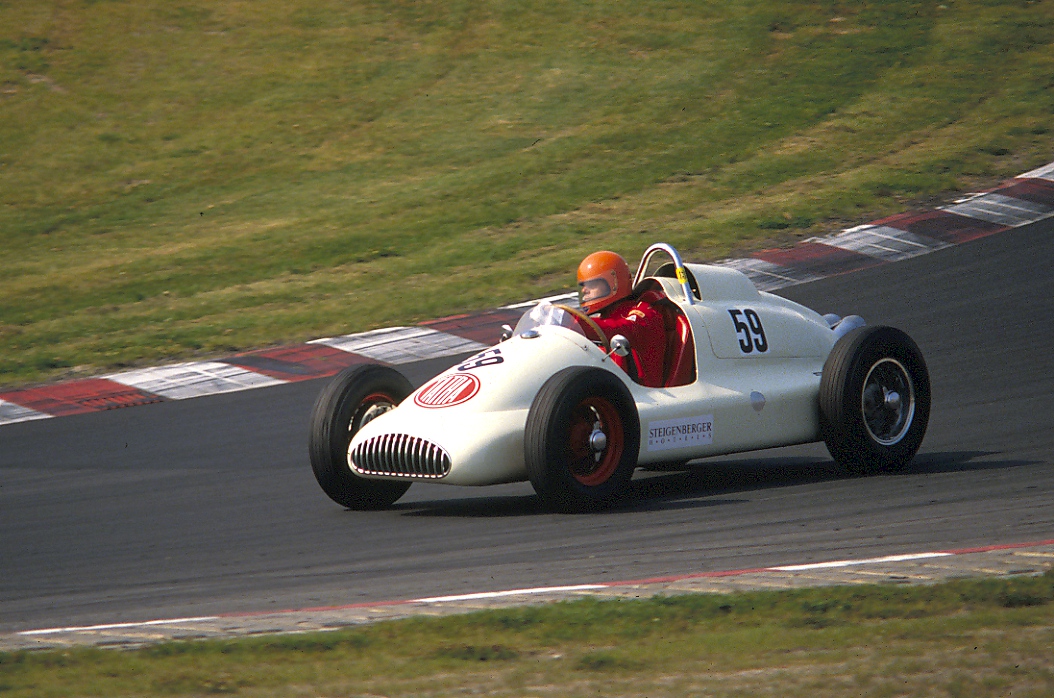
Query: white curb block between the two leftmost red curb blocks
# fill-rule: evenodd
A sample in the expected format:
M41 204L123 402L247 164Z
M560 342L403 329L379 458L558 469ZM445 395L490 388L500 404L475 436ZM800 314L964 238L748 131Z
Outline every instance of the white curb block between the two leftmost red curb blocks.
M103 376L170 400L282 385L286 381L220 362L194 362Z

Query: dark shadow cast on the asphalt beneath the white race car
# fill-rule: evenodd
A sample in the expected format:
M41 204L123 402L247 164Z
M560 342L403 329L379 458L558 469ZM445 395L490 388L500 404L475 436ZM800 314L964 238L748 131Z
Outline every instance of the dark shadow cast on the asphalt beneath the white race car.
M1036 461L993 459L994 451L921 453L903 471L871 476L912 477L945 472L1001 470L1035 465ZM831 459L817 457L758 457L696 461L643 468L630 483L626 498L600 516L625 511L691 509L743 504L735 497L774 487L790 487L855 480ZM393 511L409 517L503 518L549 515L532 493L424 500L396 504ZM551 515L559 516L559 515ZM580 515L581 516L581 515ZM594 515L596 516L596 515Z

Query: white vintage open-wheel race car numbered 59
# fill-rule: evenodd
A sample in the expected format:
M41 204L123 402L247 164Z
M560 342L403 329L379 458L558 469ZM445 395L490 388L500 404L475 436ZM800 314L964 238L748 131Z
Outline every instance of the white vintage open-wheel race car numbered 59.
M633 284L663 297L662 387L614 365L625 337L603 336L575 307L541 304L417 390L387 366L338 374L311 415L318 484L373 509L414 481L529 480L547 508L583 511L618 501L638 466L816 441L855 473L914 458L930 379L900 330L821 316L664 244L644 253Z

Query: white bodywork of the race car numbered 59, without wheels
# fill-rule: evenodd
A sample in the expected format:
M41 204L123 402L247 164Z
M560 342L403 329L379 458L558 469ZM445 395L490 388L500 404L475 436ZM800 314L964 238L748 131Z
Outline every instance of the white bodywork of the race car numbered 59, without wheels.
M704 265L683 269L694 277L699 297L687 283L657 280L690 324L692 383L640 386L583 334L542 326L452 367L364 425L349 446L349 465L366 478L452 485L527 480L527 413L542 385L570 366L606 368L629 388L641 424L639 465L819 441L820 374L839 333L816 312L759 292L739 271ZM463 402L428 406L444 401ZM356 446L384 434L408 434L438 446L449 455L449 472L378 476L356 468L350 455Z

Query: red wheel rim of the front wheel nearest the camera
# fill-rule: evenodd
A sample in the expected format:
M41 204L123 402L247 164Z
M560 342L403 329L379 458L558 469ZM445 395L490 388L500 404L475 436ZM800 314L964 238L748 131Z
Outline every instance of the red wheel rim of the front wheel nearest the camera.
M591 445L598 428L607 440L601 450ZM583 400L571 411L567 444L571 477L587 487L604 484L622 461L625 437L619 410L602 398Z

